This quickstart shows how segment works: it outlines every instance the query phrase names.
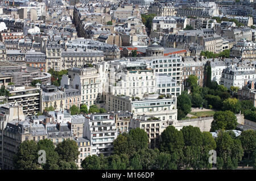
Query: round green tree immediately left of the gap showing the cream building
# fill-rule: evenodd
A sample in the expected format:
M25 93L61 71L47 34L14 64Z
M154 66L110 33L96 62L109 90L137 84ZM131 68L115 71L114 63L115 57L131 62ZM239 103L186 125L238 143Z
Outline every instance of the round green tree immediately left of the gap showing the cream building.
M129 137L127 138L135 151L147 148L148 146L148 137L144 129L135 128L129 131Z

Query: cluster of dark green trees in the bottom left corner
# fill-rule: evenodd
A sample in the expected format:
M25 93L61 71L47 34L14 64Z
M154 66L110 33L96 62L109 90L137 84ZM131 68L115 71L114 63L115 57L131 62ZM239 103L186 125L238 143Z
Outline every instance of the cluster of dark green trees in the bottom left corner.
M39 150L46 151L46 163L39 163ZM64 140L56 148L49 139L23 141L14 155L13 162L18 170L77 170L78 146L73 140Z

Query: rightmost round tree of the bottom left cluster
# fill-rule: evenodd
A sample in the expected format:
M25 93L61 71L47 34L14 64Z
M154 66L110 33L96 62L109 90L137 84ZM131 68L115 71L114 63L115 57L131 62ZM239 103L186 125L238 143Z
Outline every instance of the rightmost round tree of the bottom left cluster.
M75 162L78 159L80 152L74 140L64 140L57 144L55 149L59 154L59 158L65 162Z

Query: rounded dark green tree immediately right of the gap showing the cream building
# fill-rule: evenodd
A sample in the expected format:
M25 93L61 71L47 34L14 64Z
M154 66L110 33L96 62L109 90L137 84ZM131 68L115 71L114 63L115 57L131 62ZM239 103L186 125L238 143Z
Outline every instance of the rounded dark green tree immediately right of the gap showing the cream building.
M183 133L177 131L174 126L168 126L161 134L162 141L160 142L160 151L168 151L172 154L175 150L182 150L185 142Z

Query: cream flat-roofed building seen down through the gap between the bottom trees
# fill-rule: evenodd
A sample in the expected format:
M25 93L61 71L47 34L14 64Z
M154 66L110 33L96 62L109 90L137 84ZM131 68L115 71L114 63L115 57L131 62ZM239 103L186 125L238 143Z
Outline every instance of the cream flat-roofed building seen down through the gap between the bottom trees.
M147 133L148 147L151 149L158 148L161 133L169 125L172 125L172 122L147 115L141 115L137 119L131 119L130 123L131 129L141 128Z

